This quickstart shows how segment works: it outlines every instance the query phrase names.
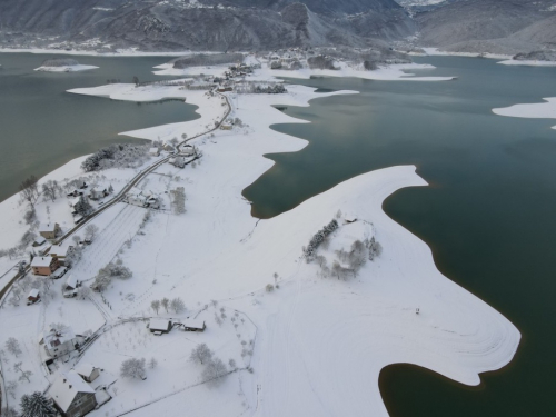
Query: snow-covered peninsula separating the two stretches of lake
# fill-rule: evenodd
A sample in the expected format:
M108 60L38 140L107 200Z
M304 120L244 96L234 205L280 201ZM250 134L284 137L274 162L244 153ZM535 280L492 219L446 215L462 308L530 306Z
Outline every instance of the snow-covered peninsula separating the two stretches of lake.
M398 70L391 71L389 77L399 79L399 73L393 75ZM185 169L162 163L136 185L160 196L161 209L119 202L91 221L99 231L68 277L88 287L109 262L129 268L131 277L111 279L102 295L85 291L77 298L61 296L70 282L63 277L42 302L3 304L0 346L13 337L21 347L18 355L2 355L4 383L18 381L24 370L32 373L12 390L14 399L44 390L60 373L88 363L102 369L91 386L106 387L112 397L90 414L93 417L387 416L378 376L389 364L415 364L478 385L480 373L512 360L519 331L443 276L428 246L383 211L383 201L396 190L427 185L414 166L351 178L269 220L250 215L241 191L272 166L264 155L295 152L307 145L270 129L274 123L305 122L272 106L309 106L319 97L355 93L287 89L285 95L242 95L239 101L234 95L227 101L178 86L110 85L71 91L130 101L183 98L199 106L200 119L126 133L137 138L193 138L218 125L228 102L228 118L236 123L191 140L202 155L196 163ZM85 176L82 159L41 182ZM112 183L117 193L153 161L100 171L89 181ZM180 214L175 206L181 187L187 211ZM49 202L48 210L42 201L38 216L68 230L66 197L59 200ZM17 196L0 203L0 231L16 242L26 229L18 222ZM302 248L311 239L320 241L317 232L329 224L337 226L314 247L315 259L307 262ZM371 256L377 242L381 251ZM363 256L354 259L354 248ZM10 297L13 291L4 300ZM185 309L157 309L153 301L163 298L180 298ZM195 318L207 328L175 328L155 336L146 327L151 317L179 324ZM81 355L56 360L50 374L38 340L51 324L91 339ZM206 364L190 360L191 350L202 344L224 363L225 373L215 379ZM146 367L146 379L120 377L120 366L129 358L152 364ZM23 371L16 366L19 361ZM13 398L4 397L10 405Z

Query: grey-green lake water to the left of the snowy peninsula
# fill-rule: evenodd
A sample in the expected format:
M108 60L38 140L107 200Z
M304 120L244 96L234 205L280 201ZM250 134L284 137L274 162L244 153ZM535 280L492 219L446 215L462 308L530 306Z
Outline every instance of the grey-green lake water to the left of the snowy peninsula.
M41 177L64 162L113 142L127 130L193 120L196 107L182 102L137 105L66 92L105 85L161 79L152 67L170 58L77 57L92 71L50 73L34 68L56 56L0 53L0 201L18 191L22 178ZM67 58L67 56L62 56Z

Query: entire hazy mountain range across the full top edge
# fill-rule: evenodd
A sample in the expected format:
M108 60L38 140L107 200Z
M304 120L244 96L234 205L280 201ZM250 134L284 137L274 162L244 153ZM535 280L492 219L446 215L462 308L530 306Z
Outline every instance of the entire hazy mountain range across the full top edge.
M388 46L517 53L556 48L553 0L2 0L3 47L268 50Z

